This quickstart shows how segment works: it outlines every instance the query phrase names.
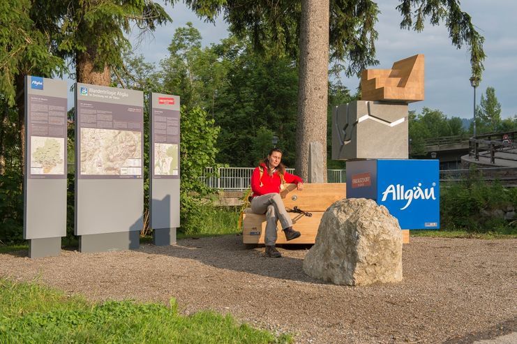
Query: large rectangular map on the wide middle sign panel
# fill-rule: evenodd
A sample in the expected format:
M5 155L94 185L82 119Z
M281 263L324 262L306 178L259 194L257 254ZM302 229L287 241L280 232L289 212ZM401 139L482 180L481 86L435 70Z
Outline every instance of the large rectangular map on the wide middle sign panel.
M81 174L142 175L142 134L81 128Z

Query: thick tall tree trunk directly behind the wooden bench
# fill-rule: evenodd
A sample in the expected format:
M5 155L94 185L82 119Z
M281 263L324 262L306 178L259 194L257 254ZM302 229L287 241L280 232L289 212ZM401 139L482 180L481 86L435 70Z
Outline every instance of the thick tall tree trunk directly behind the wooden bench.
M297 174L308 180L309 145L320 142L327 181L327 94L329 80L329 0L301 1L297 121Z

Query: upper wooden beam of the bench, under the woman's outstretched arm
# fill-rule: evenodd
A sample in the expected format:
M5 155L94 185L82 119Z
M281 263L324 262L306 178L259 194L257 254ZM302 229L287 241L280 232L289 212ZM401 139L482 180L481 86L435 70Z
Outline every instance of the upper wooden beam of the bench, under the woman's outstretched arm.
M304 190L298 191L296 184L285 184L280 193L286 208L295 206L303 211L326 211L334 202L347 197L345 183L304 184Z

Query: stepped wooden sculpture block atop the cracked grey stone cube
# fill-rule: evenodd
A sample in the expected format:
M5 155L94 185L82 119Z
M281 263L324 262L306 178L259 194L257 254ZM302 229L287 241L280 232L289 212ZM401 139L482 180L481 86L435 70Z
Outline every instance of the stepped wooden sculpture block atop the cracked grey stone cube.
M396 61L391 69L363 70L361 91L362 100L424 100L424 54Z

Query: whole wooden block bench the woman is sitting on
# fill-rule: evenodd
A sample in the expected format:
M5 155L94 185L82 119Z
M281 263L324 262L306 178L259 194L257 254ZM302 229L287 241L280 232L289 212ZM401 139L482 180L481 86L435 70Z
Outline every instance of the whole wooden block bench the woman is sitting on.
M292 225L295 230L301 232L301 237L286 241L280 222L278 222L276 244L314 244L323 213L334 202L346 198L346 195L347 188L344 183L304 184L304 190L301 191L297 190L295 184L286 184L285 190L280 193L285 208L294 209L294 207L298 207L309 212L312 216L289 213ZM246 209L243 214L242 229L243 244L264 244L266 216L253 214L250 209Z

